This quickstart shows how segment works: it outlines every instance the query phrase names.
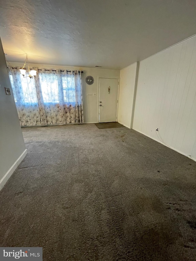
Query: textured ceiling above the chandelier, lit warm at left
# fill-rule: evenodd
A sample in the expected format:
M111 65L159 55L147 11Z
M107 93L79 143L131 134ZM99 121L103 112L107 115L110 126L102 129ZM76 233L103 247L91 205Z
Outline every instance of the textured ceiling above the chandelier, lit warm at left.
M0 0L8 61L121 69L196 33L194 0Z

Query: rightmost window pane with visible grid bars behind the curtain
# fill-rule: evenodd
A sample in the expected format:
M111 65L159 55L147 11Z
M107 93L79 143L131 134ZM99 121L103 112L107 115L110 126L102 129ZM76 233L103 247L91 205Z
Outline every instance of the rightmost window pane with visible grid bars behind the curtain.
M62 77L62 87L64 102L75 103L74 76L69 75L66 77Z

